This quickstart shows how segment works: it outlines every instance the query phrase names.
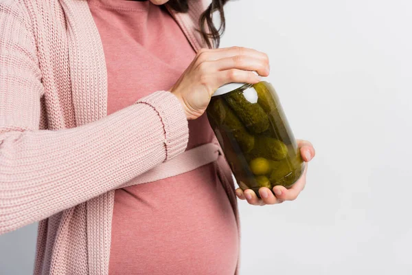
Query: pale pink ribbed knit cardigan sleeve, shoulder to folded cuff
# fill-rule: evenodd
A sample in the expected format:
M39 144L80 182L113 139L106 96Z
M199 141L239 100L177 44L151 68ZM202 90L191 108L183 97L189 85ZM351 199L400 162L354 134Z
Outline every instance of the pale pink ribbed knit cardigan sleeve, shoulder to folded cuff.
M44 91L22 10L0 4L0 234L115 189L188 140L183 109L167 91L84 126L38 130Z

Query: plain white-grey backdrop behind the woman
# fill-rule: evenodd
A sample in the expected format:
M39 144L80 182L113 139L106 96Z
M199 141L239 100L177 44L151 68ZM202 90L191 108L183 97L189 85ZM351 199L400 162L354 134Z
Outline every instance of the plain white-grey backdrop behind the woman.
M317 149L297 201L240 202L241 274L412 274L412 1L226 10L222 47L269 55L295 135ZM35 230L0 236L1 274L31 273Z

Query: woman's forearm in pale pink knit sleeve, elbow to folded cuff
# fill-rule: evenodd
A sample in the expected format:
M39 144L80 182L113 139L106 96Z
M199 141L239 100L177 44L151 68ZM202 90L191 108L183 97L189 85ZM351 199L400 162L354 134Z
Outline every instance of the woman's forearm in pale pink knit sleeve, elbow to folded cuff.
M0 135L0 234L45 219L185 150L179 101L157 92L106 118L61 131Z

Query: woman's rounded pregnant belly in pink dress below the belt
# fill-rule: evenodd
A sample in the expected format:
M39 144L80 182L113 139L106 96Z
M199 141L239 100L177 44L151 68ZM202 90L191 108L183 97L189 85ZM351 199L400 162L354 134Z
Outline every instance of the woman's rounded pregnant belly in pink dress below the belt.
M238 254L213 164L115 191L109 274L233 275Z

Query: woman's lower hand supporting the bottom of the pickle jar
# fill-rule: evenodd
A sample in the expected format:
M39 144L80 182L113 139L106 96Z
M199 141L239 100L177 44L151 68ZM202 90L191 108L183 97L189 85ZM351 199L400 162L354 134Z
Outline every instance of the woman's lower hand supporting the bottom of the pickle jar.
M302 158L305 162L310 162L314 157L314 148L310 142L304 140L298 140L297 145L300 148ZM259 199L256 196L255 192L251 189L242 190L240 188L236 189L236 195L239 199L246 199L248 203L253 204L254 206L264 206L265 204L276 204L282 203L284 201L293 201L297 198L301 190L304 190L306 185L306 172L308 170L308 164L306 164L304 175L293 184L290 189L286 189L284 186L275 186L273 187L273 193L269 188L262 187L259 189L259 194L262 199Z

